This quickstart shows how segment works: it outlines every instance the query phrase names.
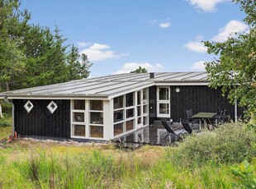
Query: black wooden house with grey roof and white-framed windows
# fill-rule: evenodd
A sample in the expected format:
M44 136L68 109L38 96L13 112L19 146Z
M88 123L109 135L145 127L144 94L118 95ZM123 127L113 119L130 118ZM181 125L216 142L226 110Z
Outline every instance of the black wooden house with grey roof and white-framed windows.
M13 104L17 135L108 141L159 118L179 122L190 108L239 117L242 109L209 82L202 71L127 73L8 91L0 99Z

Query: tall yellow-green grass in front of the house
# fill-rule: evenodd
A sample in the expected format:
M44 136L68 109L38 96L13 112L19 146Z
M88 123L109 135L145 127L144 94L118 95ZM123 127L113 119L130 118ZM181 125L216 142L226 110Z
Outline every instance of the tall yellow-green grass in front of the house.
M226 164L195 169L173 164L165 159L169 147L124 152L101 145L22 143L0 150L2 188L231 188L235 182Z

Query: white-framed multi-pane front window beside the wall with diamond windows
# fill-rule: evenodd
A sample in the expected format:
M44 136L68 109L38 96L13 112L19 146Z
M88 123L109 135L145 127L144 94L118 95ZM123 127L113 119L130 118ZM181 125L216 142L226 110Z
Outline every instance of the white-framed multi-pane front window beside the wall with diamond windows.
M71 105L71 136L103 138L103 101L74 99Z

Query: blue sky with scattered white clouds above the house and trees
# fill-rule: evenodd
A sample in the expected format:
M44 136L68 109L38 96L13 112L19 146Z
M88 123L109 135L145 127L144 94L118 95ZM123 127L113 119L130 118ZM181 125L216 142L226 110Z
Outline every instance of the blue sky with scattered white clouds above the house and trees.
M59 25L93 63L90 76L148 71L202 71L211 61L201 40L244 32L244 12L229 0L22 0L31 23Z

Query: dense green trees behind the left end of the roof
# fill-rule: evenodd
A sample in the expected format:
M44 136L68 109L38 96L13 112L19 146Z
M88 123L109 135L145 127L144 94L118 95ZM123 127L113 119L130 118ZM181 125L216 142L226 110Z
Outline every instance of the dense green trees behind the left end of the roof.
M0 91L82 79L89 74L86 55L65 45L56 25L29 24L31 13L18 0L0 0Z

